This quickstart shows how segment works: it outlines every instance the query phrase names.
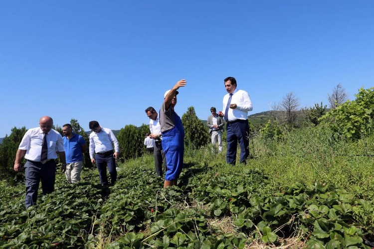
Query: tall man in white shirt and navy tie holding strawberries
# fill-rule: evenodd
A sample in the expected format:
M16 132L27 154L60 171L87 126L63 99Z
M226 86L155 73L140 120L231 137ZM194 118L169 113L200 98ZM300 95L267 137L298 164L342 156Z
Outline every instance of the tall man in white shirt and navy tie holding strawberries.
M234 77L224 79L227 94L223 97L223 111L218 116L226 122L227 153L226 162L235 165L236 148L240 145L240 163L246 163L249 156L248 112L252 102L247 92L236 88Z

